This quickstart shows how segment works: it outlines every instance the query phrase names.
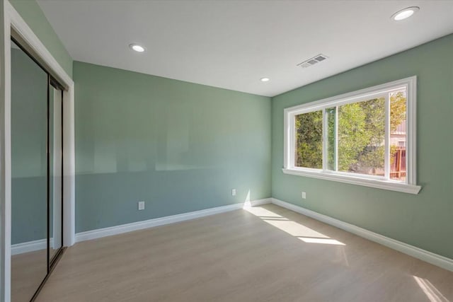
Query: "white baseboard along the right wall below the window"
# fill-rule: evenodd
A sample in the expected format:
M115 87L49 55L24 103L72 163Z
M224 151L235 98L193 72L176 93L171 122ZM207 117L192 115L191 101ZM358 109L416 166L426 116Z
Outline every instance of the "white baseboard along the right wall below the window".
M353 224L343 222L338 219L334 219L330 216L319 214L316 211L311 211L309 209L299 207L295 204L290 204L289 202L283 202L282 200L272 198L272 203L277 204L277 206L295 211L299 214L303 214L313 219L330 224L331 226L336 226L337 228L341 228L357 236L367 238L368 240L372 240L376 243L385 245L388 248L398 250L399 252L403 252L407 255L418 258L432 265L437 265L438 267L442 267L443 269L448 269L449 271L453 272L453 260L450 258L437 255L433 252L428 252L428 250L422 250L421 248L417 248L413 245L402 243L401 241L379 235L378 233L365 230L365 228L360 228L359 226L355 226Z

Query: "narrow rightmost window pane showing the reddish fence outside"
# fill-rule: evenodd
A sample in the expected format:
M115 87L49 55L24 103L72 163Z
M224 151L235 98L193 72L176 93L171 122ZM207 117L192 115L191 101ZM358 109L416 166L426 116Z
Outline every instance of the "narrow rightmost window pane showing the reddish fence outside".
M406 181L406 90L390 93L390 179Z

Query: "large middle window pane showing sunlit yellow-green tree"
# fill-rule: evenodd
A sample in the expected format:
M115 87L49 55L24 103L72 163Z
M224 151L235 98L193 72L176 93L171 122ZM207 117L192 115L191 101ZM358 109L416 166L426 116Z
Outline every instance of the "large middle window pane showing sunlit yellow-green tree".
M385 98L338 106L338 171L384 176Z

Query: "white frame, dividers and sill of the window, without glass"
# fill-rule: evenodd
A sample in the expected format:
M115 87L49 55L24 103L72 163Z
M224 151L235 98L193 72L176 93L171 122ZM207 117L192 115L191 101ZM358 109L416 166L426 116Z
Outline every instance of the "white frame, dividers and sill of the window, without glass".
M389 180L389 175L385 177L375 175L360 175L353 173L337 172L328 170L327 168L327 146L328 132L326 131L327 119L324 118L326 114L326 108L332 108L339 105L345 105L348 103L356 103L364 100L369 100L378 96L386 98L386 159L389 158L389 92L398 91L401 88L406 88L406 182ZM283 173L290 175L300 175L310 178L319 178L323 180L333 180L337 182L345 182L354 185L363 185L366 187L375 187L384 190L392 190L398 192L406 192L411 194L418 194L421 187L417 185L417 170L416 170L416 108L417 108L417 77L411 76L406 79L398 81L391 81L382 85L377 85L359 91L353 91L351 93L345 93L342 95L336 95L331 98L325 98L323 100L316 100L314 102L297 105L291 108L285 108L284 120L285 120L285 153L284 153L284 164ZM322 110L323 112L323 168L302 168L294 166L295 157L295 116L302 113L313 112ZM389 169L385 169L386 174L389 173Z

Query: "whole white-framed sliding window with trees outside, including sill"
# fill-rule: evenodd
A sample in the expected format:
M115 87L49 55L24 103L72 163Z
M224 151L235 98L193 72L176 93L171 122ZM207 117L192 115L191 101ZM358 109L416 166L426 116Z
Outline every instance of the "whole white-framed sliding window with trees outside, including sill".
M283 172L417 194L416 77L285 109Z

